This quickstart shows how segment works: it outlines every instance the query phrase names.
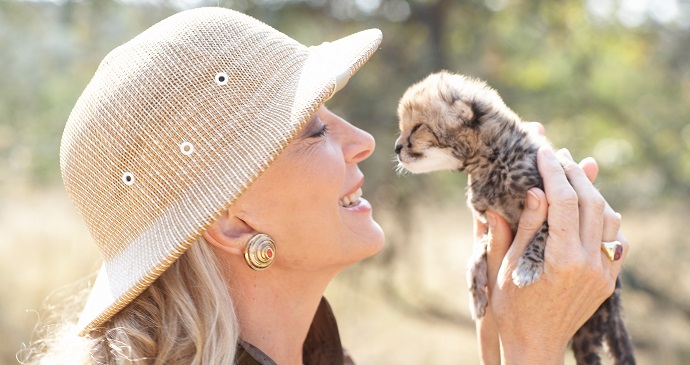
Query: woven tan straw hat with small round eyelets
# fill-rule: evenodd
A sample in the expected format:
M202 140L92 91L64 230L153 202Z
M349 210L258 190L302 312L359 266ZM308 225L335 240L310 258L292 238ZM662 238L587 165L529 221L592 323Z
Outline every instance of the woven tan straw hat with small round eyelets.
M306 47L249 16L188 10L101 63L60 167L103 256L82 335L144 291L266 169L381 42Z

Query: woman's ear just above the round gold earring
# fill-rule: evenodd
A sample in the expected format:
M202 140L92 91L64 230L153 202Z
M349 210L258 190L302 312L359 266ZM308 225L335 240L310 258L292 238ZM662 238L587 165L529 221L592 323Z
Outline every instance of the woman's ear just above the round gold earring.
M224 212L202 235L212 246L231 255L243 256L247 242L256 234L245 221Z

